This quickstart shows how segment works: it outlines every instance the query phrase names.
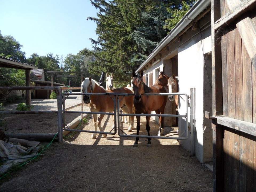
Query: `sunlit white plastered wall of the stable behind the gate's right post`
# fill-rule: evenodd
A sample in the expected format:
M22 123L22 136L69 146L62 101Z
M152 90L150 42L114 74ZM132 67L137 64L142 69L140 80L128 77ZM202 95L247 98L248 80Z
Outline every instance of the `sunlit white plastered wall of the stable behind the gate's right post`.
M202 51L203 45L203 51ZM179 73L179 92L187 93L190 95L190 88L195 87L195 155L200 162L204 163L212 160L212 147L208 149L204 146L204 138L211 139L210 127L204 125L204 101L206 99L204 93L204 53L211 51L211 29L208 27L202 31L202 44L201 35L198 34L184 43L178 48L178 73ZM209 85L209 84L208 84ZM185 97L179 99L179 114L186 113ZM190 115L190 114L189 114ZM189 120L190 122L190 120ZM186 132L185 118L179 118L179 136L184 137ZM189 137L190 138L190 137ZM190 139L179 141L185 149L190 150Z

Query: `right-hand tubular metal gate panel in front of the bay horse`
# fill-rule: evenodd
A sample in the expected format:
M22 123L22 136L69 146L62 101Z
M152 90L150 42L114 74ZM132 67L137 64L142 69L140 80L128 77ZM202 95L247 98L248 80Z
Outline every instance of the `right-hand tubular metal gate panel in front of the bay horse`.
M128 94L134 95L134 94ZM140 137L140 138L156 138L156 139L178 139L178 140L186 140L188 138L189 130L188 130L188 98L189 96L185 93L145 93L143 95L151 96L151 95L185 95L186 96L186 106L187 113L186 115L173 115L173 114L120 114L119 110L117 110L117 124L118 124L118 135L120 137ZM117 96L117 109L119 109L119 94ZM186 118L186 137L165 137L165 136L152 136L152 135L127 135L123 130L120 129L120 117L122 116L140 116L140 117L185 117ZM122 131L125 135L121 134Z

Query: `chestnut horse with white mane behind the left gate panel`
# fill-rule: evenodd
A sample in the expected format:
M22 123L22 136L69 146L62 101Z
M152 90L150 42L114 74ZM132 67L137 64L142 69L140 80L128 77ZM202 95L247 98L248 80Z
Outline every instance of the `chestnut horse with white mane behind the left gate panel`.
M125 87L118 88L115 90L106 90L103 87L99 86L98 83L89 78L83 77L83 82L81 84L82 92L83 93L129 93L132 94L133 92L130 89ZM133 113L133 99L134 96L124 97L120 101L120 106L125 105L129 111L129 113ZM91 112L113 112L114 110L114 101L109 96L106 95L84 95L83 102L88 104ZM97 126L99 127L100 131L104 131L101 127L101 120L104 117L103 114L99 115L97 118L97 114L93 114L93 121L94 121L94 131L97 131ZM129 129L133 129L133 121L134 117L131 117L131 123ZM107 137L106 134L103 134L103 137ZM96 138L96 133L91 135L91 139Z

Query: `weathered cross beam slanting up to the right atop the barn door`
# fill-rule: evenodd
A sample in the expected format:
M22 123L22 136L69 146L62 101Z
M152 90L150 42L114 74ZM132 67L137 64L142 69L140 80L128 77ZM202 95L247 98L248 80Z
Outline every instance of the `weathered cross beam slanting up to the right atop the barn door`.
M223 24L228 24L233 22L236 18L238 18L240 15L243 13L253 9L256 5L256 0L246 0L240 3L238 6L233 8L229 13L225 14L223 17L218 19L214 23L214 29L218 29L221 27Z

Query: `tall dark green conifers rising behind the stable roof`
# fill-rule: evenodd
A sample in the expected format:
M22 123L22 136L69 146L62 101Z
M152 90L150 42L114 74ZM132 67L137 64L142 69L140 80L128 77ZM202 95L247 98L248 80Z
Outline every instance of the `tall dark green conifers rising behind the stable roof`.
M130 82L131 72L148 57L158 43L193 5L192 0L90 0L99 11L88 17L97 23L98 39L90 39L94 56L89 72L113 72L115 81ZM174 20L173 20L174 19ZM175 20L176 19L176 20ZM166 26L166 27L164 27Z

